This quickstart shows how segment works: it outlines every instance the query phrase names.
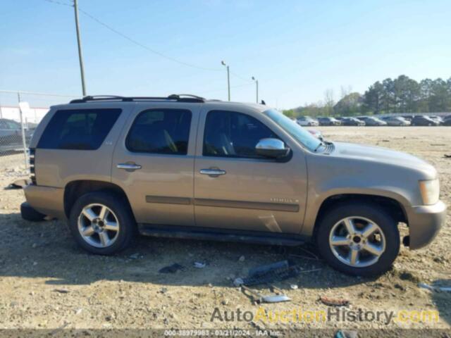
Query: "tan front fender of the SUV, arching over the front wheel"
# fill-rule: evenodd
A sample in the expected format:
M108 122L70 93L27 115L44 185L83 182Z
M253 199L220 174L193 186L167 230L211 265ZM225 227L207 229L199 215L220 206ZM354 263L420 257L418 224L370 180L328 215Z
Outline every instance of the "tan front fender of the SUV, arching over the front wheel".
M311 235L321 205L331 196L382 196L404 209L421 204L418 172L412 168L365 159L327 155L307 157L307 210L301 234Z

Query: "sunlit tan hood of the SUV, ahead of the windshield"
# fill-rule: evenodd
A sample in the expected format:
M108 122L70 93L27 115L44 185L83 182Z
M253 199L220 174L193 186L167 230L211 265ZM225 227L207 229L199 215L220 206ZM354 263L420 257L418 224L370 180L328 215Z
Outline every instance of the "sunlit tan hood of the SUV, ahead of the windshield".
M435 178L437 171L432 165L416 156L383 148L381 146L366 146L345 142L333 142L335 150L330 156L358 159L360 161L374 161L380 164L395 165L413 170L419 170L428 177Z

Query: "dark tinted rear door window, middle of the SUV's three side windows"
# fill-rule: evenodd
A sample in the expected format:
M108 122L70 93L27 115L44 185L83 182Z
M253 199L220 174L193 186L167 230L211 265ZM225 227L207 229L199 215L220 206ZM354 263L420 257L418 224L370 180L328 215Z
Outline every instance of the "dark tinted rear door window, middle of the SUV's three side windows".
M134 153L186 155L191 111L149 109L142 111L128 132L125 146Z

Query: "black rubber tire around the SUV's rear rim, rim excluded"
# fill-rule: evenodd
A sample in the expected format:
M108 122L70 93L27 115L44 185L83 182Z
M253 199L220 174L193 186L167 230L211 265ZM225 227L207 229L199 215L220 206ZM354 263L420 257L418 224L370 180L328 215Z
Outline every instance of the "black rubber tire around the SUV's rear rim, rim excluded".
M119 231L116 241L105 248L90 245L83 239L78 230L78 217L85 206L89 204L103 204L113 211L118 219ZM85 250L98 255L112 255L130 246L137 233L137 225L128 201L113 192L89 192L82 195L70 210L69 229L78 244Z

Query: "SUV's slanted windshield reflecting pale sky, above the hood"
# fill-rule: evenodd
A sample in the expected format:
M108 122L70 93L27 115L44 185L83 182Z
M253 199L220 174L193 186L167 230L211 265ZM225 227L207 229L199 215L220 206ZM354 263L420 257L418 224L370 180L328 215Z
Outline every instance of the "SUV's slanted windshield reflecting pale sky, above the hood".
M265 111L264 114L271 118L279 127L281 127L285 132L288 132L293 138L297 140L300 144L305 146L310 151L315 151L315 149L321 144L321 141L311 135L303 127L292 121L287 116L283 115L279 111L270 109Z

